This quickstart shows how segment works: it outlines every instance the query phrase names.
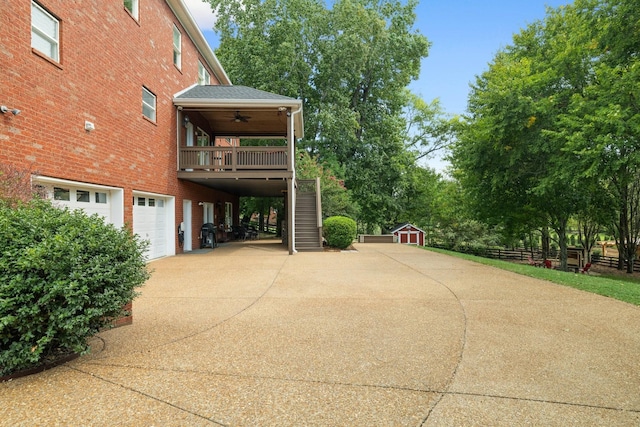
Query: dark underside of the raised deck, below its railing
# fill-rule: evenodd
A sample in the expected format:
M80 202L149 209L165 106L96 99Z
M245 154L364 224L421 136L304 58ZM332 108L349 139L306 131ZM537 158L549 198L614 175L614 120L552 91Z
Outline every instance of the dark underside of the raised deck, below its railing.
M286 179L208 179L208 178L188 178L188 181L195 182L205 187L214 188L236 196L246 197L284 197L287 191Z

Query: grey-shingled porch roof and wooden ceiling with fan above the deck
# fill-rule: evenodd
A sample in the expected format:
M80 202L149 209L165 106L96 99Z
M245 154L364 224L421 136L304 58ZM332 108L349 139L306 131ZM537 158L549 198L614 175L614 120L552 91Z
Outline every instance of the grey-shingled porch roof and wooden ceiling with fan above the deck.
M295 138L304 136L302 101L246 86L196 85L173 98L183 112L197 111L216 137L286 138L292 114Z

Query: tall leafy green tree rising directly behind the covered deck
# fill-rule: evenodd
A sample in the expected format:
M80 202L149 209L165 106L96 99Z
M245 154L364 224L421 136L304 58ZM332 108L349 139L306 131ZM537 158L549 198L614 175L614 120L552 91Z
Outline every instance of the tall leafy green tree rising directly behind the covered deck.
M405 88L428 42L415 0L209 0L232 80L303 100L301 145L342 173L360 220L388 224L406 156Z

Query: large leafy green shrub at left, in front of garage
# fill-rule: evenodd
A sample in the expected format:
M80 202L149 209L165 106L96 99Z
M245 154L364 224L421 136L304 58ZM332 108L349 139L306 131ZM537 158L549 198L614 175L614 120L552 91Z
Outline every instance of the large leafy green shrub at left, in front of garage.
M86 353L149 278L146 246L97 215L0 203L0 375Z

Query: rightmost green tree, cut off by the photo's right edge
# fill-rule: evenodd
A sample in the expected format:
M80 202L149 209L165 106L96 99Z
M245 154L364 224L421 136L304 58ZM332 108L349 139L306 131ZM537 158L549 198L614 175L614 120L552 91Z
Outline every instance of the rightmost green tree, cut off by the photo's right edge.
M569 99L560 133L584 179L612 200L620 260L631 273L640 243L640 9L634 0L577 0L564 18L574 23L565 52L584 86Z

